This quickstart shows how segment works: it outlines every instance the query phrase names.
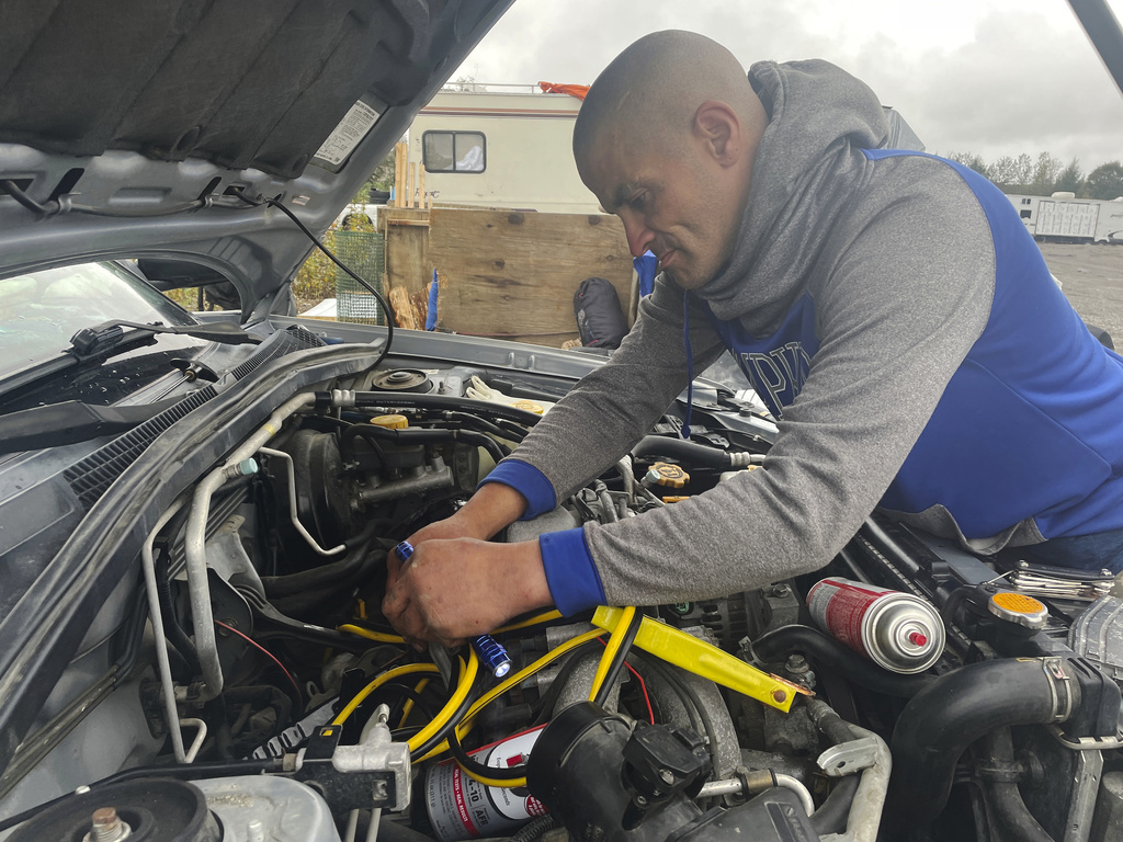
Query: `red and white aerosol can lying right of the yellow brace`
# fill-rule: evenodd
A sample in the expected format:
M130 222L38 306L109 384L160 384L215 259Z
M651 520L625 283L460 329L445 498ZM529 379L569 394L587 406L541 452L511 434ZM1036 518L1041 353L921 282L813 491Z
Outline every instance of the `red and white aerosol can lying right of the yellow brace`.
M828 634L893 672L922 672L943 652L943 621L929 603L898 591L827 578L807 593Z

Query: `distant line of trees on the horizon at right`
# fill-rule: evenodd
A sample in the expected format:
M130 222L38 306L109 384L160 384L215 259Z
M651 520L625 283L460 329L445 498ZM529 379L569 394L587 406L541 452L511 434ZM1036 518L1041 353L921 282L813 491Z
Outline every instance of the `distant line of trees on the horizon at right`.
M1079 199L1123 196L1123 164L1117 161L1101 164L1085 175L1076 158L1066 164L1048 152L1038 155L1037 161L1025 153L1016 157L1003 155L990 163L970 152L952 153L947 157L985 175L1004 193L1051 195L1067 191Z

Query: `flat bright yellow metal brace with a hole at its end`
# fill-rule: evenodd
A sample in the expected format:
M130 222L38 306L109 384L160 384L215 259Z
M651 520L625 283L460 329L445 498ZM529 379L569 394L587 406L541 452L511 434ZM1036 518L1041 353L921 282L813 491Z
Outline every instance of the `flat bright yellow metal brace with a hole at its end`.
M602 605L593 614L593 625L615 629L622 611ZM806 687L768 675L704 640L651 617L640 622L633 646L784 713L792 708L797 694L814 695Z

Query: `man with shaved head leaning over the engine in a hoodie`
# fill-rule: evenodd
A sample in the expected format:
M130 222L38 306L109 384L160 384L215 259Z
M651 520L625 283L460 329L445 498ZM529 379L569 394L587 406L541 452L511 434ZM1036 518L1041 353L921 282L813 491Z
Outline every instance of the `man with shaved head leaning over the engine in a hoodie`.
M451 643L549 604L761 587L827 565L878 506L977 552L1123 569L1123 359L996 187L889 137L874 93L825 62L746 74L666 31L605 68L577 167L661 274L612 359L411 538L383 605L403 634ZM760 469L637 518L486 542L611 469L725 349L777 420ZM690 438L690 399L685 414Z

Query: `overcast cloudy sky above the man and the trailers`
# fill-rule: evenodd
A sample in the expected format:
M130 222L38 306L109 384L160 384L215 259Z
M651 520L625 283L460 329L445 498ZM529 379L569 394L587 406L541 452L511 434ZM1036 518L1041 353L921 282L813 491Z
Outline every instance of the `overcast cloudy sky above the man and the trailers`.
M455 77L590 84L659 29L707 35L746 67L834 62L929 152L1048 150L1086 173L1123 159L1123 95L1065 0L515 0Z

